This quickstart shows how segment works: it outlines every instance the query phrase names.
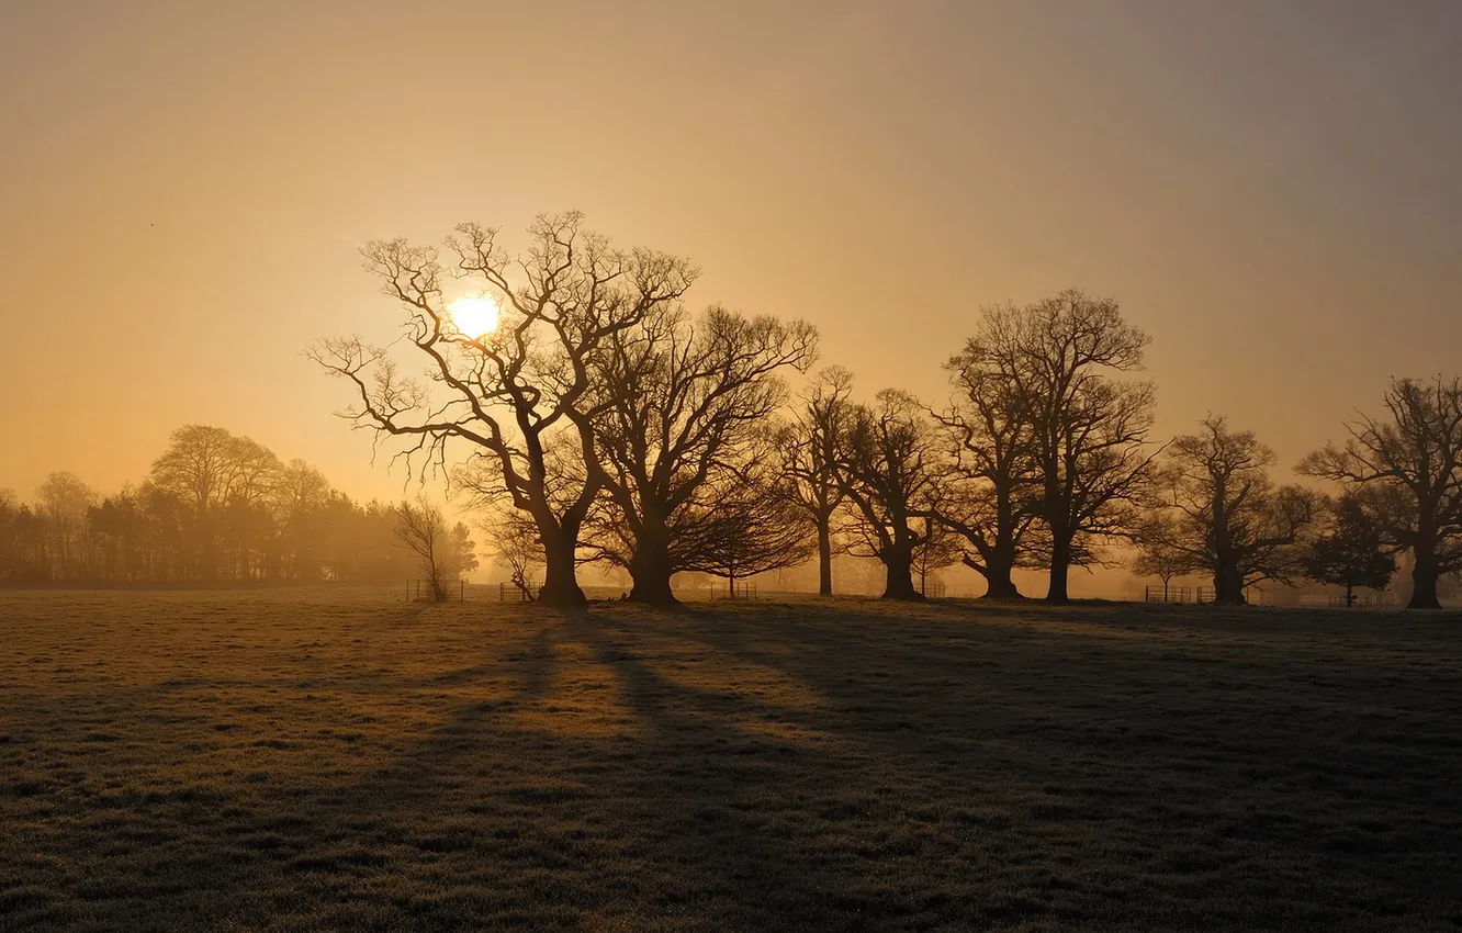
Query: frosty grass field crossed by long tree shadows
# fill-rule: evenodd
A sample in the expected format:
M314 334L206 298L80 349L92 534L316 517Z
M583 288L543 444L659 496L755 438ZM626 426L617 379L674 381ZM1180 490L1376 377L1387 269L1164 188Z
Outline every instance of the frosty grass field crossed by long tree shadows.
M0 591L3 930L1462 929L1462 617Z

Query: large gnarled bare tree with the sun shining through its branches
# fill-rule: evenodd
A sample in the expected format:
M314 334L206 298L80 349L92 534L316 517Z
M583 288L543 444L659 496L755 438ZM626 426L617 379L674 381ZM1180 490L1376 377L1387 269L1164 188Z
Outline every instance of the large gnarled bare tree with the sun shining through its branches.
M541 601L582 605L575 567L579 531L604 481L594 420L613 404L591 393L591 358L605 341L680 300L696 276L683 259L651 250L621 252L580 228L582 215L538 218L532 246L512 260L493 228L463 224L447 238L452 275L485 281L501 304L487 333L465 333L443 295L447 271L437 250L404 240L373 243L367 269L406 311L406 342L428 364L428 382L405 379L386 350L357 338L310 350L329 373L354 383L346 417L382 436L412 440L446 464L449 442L465 442L480 475L532 516L544 545ZM551 475L556 436L577 447L579 477ZM563 442L560 442L563 443Z

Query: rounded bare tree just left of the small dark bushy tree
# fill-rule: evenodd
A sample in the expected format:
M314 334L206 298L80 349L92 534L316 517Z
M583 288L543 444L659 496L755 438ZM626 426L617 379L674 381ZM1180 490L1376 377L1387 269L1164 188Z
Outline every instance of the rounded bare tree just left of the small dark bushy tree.
M1168 446L1159 471L1156 515L1143 545L1187 554L1213 576L1215 601L1244 603L1244 588L1260 581L1288 583L1301 570L1301 535L1313 525L1320 497L1269 478L1275 453L1253 431L1234 431L1218 415L1197 434Z

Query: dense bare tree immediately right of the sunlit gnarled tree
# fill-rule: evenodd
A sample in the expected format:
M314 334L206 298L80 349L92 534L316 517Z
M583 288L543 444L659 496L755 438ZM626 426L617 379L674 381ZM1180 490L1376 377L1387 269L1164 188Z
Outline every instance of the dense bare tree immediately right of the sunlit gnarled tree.
M671 575L706 559L693 541L677 543L677 532L715 525L706 510L718 503L705 493L738 488L787 399L779 373L813 363L817 332L721 307L696 320L656 309L601 350L595 373L608 401L595 430L605 491L632 548L629 598L674 603Z

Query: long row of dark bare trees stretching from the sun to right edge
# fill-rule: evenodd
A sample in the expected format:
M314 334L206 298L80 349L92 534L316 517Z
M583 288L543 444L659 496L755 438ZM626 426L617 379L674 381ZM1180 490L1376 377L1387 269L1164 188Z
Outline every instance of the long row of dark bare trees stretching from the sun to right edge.
M788 376L817 355L811 326L690 314L693 266L616 250L577 214L539 218L529 237L518 257L472 224L446 259L404 240L364 250L405 310L398 345L425 361L424 382L355 338L310 354L352 385L348 417L406 439L408 462L497 515L525 589L522 567L541 560L547 603L583 601L583 562L626 569L633 600L668 603L677 572L735 579L816 554L830 592L839 551L877 557L892 598L962 562L991 597L1018 597L1013 572L1044 567L1060 601L1070 567L1132 543L1241 603L1259 579L1319 573L1314 541L1351 547L1364 522L1377 551L1414 556L1412 604L1434 605L1437 576L1462 560L1456 382L1395 383L1387 418L1306 459L1345 493L1326 507L1275 486L1272 452L1221 417L1155 443L1154 388L1133 377L1149 338L1116 301L1066 291L984 309L939 408L892 389L854 401L836 367L794 401ZM501 306L496 329L458 326L447 292L463 287Z

